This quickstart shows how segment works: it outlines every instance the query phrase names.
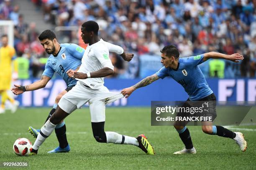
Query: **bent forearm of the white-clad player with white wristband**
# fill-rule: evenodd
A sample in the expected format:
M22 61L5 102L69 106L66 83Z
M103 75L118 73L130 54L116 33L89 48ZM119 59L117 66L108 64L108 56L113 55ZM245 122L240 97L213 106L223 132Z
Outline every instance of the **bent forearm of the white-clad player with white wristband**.
M114 73L114 70L112 70L109 67L103 67L102 69L95 71L95 72L90 72L90 77L88 77L89 73L83 73L83 72L74 72L74 77L73 78L78 78L78 79L87 79L87 78L98 78L98 77L106 77L108 75L112 75Z

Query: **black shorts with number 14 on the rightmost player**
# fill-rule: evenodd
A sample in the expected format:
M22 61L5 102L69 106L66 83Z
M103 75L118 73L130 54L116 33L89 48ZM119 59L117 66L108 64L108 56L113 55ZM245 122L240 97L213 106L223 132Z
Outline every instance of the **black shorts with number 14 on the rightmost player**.
M212 93L204 98L202 98L201 100L198 101L191 101L189 99L187 99L186 102L184 102L184 104L182 105L182 107L189 107L191 109L191 107L197 107L200 108L200 110L202 110L202 112L195 112L192 114L192 112L178 112L176 117L211 117L211 120L215 120L215 118L217 117L217 113L216 113L216 97L215 95ZM182 121L182 122L176 122L176 125L187 125L187 123L190 121ZM178 123L178 124L177 124Z

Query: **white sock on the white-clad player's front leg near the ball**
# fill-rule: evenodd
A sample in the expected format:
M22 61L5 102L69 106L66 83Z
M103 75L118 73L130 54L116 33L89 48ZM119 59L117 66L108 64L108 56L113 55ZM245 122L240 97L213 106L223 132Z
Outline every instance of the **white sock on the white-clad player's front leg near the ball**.
M41 135L41 133L38 133L38 136L32 148L34 150L38 150L38 148L42 145L42 143L44 143L46 138L49 135L51 135L52 131L54 131L55 127L56 125L52 124L50 120L47 120L47 122L44 124L44 126L40 130L41 133L43 133L43 135Z

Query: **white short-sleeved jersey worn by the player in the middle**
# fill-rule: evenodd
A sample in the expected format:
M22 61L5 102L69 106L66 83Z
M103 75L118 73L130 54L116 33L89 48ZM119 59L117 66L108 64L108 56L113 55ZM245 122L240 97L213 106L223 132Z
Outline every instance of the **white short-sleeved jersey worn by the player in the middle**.
M82 57L82 64L77 72L95 72L104 67L114 70L114 66L109 58L108 46L105 44L105 41L100 40L87 46ZM77 80L92 89L100 89L104 84L104 77Z

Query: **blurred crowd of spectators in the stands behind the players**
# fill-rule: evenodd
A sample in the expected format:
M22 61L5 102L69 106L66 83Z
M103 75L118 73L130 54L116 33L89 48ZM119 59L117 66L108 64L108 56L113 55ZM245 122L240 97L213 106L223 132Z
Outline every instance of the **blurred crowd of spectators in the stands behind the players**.
M209 60L200 65L206 77L255 77L256 0L31 0L54 26L76 26L86 20L100 25L100 37L135 53L127 63L112 54L115 76L140 76L142 55L160 56L160 49L174 44L181 57L208 51L243 54L240 64ZM24 21L18 6L0 0L0 19L15 23L15 49L30 61L34 77L44 69L46 57L37 40L35 23ZM36 8L35 8L36 9ZM58 37L79 43L79 30ZM60 41L62 42L62 41ZM160 58L159 58L160 60ZM40 68L40 69L38 69Z

